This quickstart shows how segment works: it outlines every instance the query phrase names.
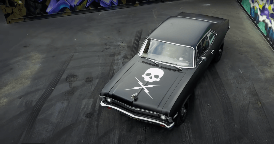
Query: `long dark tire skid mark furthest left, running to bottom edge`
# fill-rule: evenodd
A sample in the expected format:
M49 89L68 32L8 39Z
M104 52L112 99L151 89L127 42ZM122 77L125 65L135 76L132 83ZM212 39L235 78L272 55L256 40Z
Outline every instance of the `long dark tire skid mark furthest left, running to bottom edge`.
M66 60L66 62L64 64L60 64L60 66L58 68L59 73L50 82L47 89L44 91L42 96L39 98L39 100L33 106L33 110L31 112L31 114L29 114L26 119L26 128L25 128L24 132L22 133L22 135L20 136L19 144L22 143L23 141L29 143L29 141L31 139L31 130L33 128L33 125L36 122L36 119L37 119L42 107L44 106L45 102L47 101L47 99L49 98L51 93L53 92L54 89L52 89L52 88L56 87L57 83L59 82L62 75L64 74L65 69L68 67L68 64L70 63L71 59L73 58L73 55L74 54L70 55L70 57L68 58L68 60Z

